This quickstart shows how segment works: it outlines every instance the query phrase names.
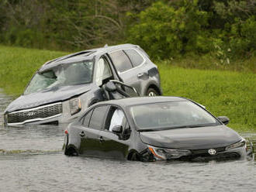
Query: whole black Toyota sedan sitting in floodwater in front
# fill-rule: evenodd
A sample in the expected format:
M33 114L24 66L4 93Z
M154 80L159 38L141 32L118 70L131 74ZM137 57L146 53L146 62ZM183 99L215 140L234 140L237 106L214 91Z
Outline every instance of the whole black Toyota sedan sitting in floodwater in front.
M186 98L124 98L93 105L65 131L64 154L141 161L237 158L244 139Z

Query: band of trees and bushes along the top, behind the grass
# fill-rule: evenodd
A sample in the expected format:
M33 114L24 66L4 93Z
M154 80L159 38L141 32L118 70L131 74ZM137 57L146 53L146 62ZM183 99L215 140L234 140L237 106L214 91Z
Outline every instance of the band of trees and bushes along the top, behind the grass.
M85 50L139 44L150 57L252 57L256 0L0 0L3 44Z

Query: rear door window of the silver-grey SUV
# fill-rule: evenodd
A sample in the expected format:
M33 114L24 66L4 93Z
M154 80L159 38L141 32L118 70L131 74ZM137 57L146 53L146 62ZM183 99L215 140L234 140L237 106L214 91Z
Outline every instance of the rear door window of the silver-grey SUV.
M133 68L132 63L130 63L130 59L126 56L126 53L124 53L123 50L109 53L109 56L119 73Z

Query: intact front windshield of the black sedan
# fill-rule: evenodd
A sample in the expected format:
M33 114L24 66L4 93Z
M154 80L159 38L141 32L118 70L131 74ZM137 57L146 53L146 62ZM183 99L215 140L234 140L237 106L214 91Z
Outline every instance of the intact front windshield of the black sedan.
M172 101L130 108L140 131L220 125L213 115L191 101Z

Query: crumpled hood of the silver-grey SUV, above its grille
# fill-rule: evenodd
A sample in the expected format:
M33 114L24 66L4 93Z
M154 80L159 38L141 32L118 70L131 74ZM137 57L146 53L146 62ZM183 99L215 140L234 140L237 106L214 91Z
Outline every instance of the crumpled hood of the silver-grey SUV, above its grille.
M47 105L56 101L64 101L68 98L83 94L90 90L92 84L78 84L62 87L51 87L33 94L21 95L5 109L5 112L34 108Z

